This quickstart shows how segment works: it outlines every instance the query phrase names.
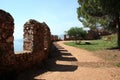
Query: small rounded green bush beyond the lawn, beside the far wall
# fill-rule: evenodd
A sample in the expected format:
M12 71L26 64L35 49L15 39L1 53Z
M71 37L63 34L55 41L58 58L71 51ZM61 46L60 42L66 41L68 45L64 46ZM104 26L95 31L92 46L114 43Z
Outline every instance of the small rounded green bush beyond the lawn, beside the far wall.
M67 35L75 39L81 39L81 38L85 38L86 31L84 31L83 28L72 27L67 31Z

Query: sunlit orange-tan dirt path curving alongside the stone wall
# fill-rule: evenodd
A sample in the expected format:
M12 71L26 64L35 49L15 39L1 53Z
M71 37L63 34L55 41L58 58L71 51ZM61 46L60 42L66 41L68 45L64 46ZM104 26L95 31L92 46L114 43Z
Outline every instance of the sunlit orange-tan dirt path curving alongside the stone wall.
M86 50L66 46L63 41L55 44L59 53L47 62L47 71L35 80L120 80L120 69ZM57 57L54 57L57 56Z

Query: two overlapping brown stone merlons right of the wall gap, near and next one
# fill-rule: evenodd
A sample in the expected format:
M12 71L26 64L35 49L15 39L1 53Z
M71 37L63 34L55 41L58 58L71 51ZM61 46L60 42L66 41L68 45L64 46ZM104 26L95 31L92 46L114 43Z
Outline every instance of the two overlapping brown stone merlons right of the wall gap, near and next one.
M45 22L29 20L24 24L24 50L35 53L48 49L51 43L50 36L50 29Z

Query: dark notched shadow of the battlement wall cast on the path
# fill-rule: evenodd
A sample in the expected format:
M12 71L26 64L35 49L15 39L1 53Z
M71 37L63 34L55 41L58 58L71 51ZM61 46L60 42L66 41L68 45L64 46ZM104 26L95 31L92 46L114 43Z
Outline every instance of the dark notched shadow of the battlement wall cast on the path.
M42 75L48 71L59 71L59 72L71 72L77 69L77 65L74 64L58 64L56 61L66 61L66 62L75 62L77 59L72 56L67 50L63 47L59 46L58 44L54 43L51 46L49 58L44 62L42 67L33 68L29 71L22 72L18 76L18 80L37 80L35 79L36 76ZM40 64L41 65L41 64ZM45 79L39 79L45 80Z

